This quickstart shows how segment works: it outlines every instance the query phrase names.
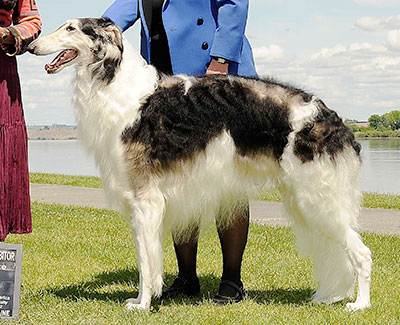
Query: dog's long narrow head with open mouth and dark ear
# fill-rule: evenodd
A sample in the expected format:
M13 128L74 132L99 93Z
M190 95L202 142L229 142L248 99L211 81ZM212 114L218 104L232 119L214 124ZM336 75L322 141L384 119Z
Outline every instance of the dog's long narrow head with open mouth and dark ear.
M81 63L101 71L102 78L112 79L119 67L123 45L121 30L107 18L81 18L67 21L54 33L32 42L28 50L36 55L61 51L49 64L47 73Z

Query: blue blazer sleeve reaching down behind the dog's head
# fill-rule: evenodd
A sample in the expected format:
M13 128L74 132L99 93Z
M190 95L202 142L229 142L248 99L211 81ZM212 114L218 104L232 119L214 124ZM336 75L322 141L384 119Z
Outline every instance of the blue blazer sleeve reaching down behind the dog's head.
M140 17L139 0L116 0L106 10L103 17L110 18L115 25L125 31Z

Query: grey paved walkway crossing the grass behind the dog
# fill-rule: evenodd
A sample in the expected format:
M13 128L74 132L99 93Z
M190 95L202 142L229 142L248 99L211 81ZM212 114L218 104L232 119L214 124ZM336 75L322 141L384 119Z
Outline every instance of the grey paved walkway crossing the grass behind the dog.
M31 184L31 198L37 202L107 208L102 189ZM281 210L281 203L251 201L250 220L268 225L288 226L289 223L282 216ZM363 208L359 223L362 231L400 235L400 210Z

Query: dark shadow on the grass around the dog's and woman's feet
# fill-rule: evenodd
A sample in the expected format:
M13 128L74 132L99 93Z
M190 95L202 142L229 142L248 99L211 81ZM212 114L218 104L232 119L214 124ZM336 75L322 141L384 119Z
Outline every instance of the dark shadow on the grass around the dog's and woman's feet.
M165 274L164 282L169 286L175 279L175 274ZM69 286L59 286L49 288L46 293L70 301L103 300L123 303L126 299L136 297L137 290L116 289L112 286L137 287L139 282L139 272L137 269L123 269L114 272L105 272L96 275L93 280ZM173 299L153 299L152 305L157 310L162 304L198 304L212 299L218 291L220 279L214 275L200 276L200 294L196 297L188 298L178 296ZM305 305L309 302L313 289L271 289L271 290L249 290L248 299L258 304L285 304L285 305Z

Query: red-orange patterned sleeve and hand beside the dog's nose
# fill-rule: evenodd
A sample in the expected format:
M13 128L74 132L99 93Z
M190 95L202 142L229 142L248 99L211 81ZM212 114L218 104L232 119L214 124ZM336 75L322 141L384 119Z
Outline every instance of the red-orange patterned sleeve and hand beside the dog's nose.
M37 38L42 30L35 0L18 1L18 7L13 13L13 26L7 28L15 39L15 44L7 49L7 55L24 53L29 43Z

